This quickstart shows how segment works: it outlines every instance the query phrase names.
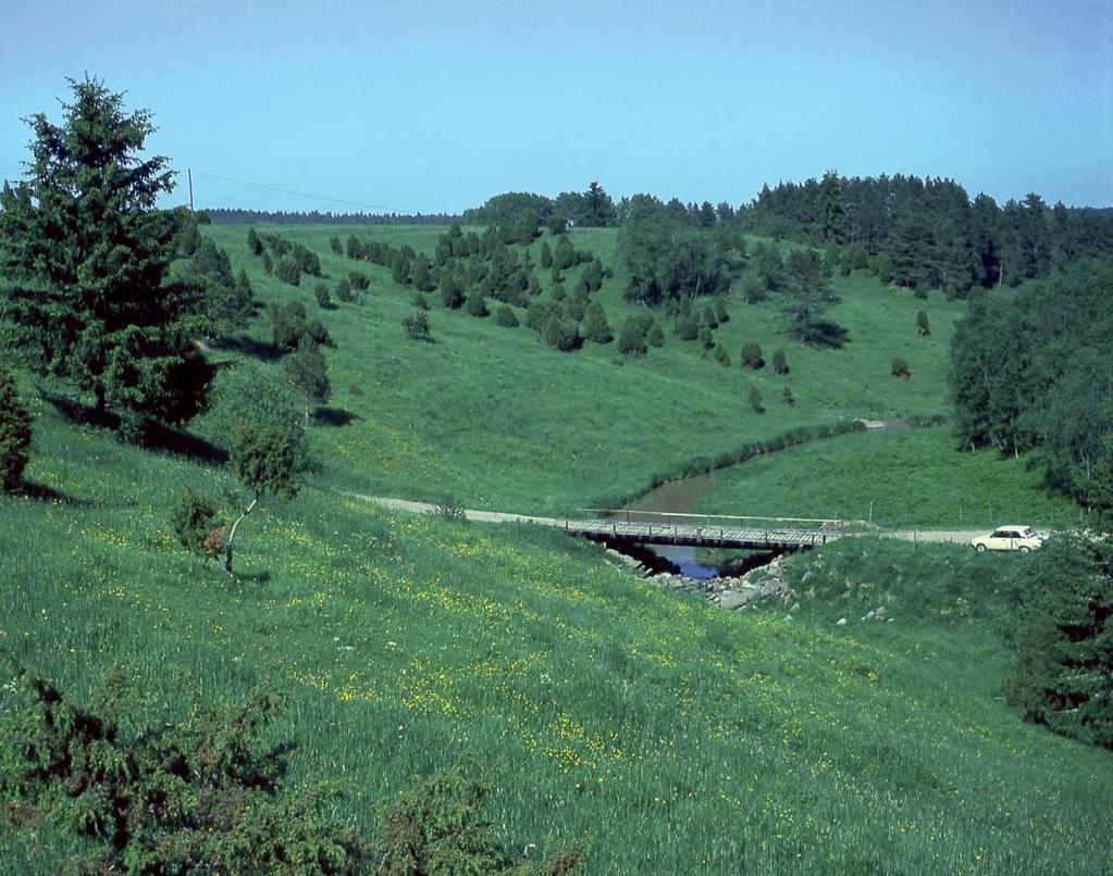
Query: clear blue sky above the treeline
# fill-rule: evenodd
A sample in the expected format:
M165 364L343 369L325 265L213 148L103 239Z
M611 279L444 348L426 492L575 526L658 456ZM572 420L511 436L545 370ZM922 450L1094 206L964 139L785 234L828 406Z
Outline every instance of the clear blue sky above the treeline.
M737 205L830 168L1113 205L1113 0L8 0L0 177L86 71L154 111L198 207L459 211L592 179Z

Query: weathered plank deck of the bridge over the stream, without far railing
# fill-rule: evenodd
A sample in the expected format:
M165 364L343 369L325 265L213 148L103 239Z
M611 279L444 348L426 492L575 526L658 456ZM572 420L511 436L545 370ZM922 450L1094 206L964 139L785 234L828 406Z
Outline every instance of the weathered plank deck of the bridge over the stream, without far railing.
M802 550L834 541L836 532L752 526L706 526L626 520L568 520L568 532L594 541L636 541L641 545L687 545L749 549Z

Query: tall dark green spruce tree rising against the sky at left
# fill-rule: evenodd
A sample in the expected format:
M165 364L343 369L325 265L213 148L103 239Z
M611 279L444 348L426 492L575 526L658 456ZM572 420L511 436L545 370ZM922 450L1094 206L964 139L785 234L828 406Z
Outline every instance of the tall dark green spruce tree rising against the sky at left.
M27 180L0 193L0 272L17 340L43 370L108 408L179 422L205 405L213 368L193 338L203 302L169 282L176 223L158 197L174 188L169 159L147 156L147 110L95 79L69 80L62 123L45 113Z

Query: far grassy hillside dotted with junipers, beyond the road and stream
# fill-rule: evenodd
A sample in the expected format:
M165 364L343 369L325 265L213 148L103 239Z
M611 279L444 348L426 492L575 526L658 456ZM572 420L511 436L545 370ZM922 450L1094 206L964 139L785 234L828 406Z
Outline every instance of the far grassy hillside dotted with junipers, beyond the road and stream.
M321 429L318 438L329 459L327 482L349 489L413 498L447 491L471 507L564 510L636 494L648 487L654 471L791 427L844 417L939 414L949 407L947 350L963 305L937 293L917 300L864 273L835 280L841 302L831 313L850 337L840 351L808 349L785 336L777 296L754 306L731 296L731 319L715 332L733 359L728 370L703 358L698 342L680 341L671 330L666 346L651 348L643 358L619 356L613 342L556 352L524 326L506 329L493 318L445 311L436 306L435 293L430 296L430 319L436 342L415 344L401 327L412 310L412 292L395 285L386 269L334 256L328 239L335 233L344 240L354 232L431 252L440 229L269 230L315 247L329 285L349 270L371 278L364 305L321 312L336 340L336 349L326 351L331 404L353 418ZM301 289L293 289L265 277L259 260L248 253L245 228L213 227L206 233L247 268L263 298L296 297L311 312L316 309L316 281L307 277ZM614 265L613 229L578 229L572 241ZM538 262L541 242L532 248ZM580 270L565 273L569 289ZM548 271L540 275L548 289ZM615 266L615 276L594 296L615 335L624 316L636 310L622 300L624 285L621 266ZM927 338L916 332L919 309L932 320ZM252 336L269 337L265 317ZM766 359L784 347L791 372L786 378L770 367L741 369L743 340L760 342ZM889 377L895 356L908 361L910 379ZM796 397L791 408L778 404L786 382ZM764 415L748 406L751 386L766 400Z

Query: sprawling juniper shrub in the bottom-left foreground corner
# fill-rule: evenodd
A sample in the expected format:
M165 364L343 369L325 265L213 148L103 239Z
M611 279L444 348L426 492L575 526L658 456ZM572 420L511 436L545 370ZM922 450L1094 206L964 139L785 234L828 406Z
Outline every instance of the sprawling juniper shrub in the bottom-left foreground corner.
M293 873L301 862L297 873L349 874L370 858L326 815L332 795L282 783L287 749L267 743L280 705L266 689L135 730L118 677L88 710L23 667L8 690L0 799L80 838L75 873Z

